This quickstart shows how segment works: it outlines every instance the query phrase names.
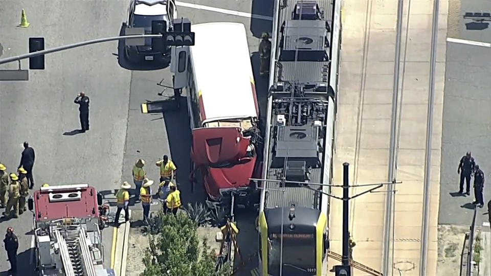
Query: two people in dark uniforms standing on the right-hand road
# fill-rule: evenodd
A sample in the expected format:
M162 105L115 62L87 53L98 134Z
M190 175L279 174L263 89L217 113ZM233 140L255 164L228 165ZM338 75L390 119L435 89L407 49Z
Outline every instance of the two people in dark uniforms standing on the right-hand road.
M479 208L482 208L482 206L484 206L484 197L482 194L484 190L484 172L479 165L476 165L476 161L474 160L474 157L472 157L470 151L460 158L457 173L460 174L459 194L464 193L465 179L465 194L471 195L471 177L474 176L475 200L472 203L478 205Z

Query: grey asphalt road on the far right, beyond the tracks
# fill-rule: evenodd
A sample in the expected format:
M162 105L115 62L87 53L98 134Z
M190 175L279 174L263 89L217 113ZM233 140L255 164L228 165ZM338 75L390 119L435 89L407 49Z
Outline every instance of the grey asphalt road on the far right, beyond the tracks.
M459 7L460 6L460 7ZM465 12L490 12L489 1L462 0L454 5L453 13L459 14L453 38L491 42L491 30L487 23L464 19ZM458 10L460 9L460 10ZM457 27L458 26L458 27ZM451 26L449 25L449 30ZM458 33L458 34L456 34ZM472 222L474 192L471 196L457 195L459 176L458 162L466 151L472 151L477 164L487 177L484 188L484 208L478 209L476 225L487 221L487 201L491 199L491 96L489 95L489 63L491 50L474 45L447 43L447 68L443 100L443 128L441 155L441 184L439 224L464 224ZM471 181L474 181L472 179ZM472 185L472 184L471 184Z

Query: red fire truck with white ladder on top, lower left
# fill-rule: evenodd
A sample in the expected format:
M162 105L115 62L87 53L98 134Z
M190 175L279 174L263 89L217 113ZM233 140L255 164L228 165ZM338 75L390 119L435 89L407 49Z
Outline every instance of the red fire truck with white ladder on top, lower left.
M34 192L28 206L34 213L39 275L115 275L103 267L100 204L96 189L87 184L48 186Z

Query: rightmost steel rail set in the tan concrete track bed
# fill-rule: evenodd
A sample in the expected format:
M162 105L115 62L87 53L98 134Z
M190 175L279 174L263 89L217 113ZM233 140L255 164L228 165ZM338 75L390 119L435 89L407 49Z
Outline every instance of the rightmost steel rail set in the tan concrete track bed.
M435 71L436 71L436 50L438 37L438 14L440 1L433 2L433 26L431 37L431 62L430 62L430 93L428 95L428 121L426 130L426 156L425 156L425 190L423 191L423 214L421 221L421 251L419 263L419 275L428 275L426 271L428 257L428 227L430 213L430 176L431 176L431 139L433 136L433 106L435 101Z

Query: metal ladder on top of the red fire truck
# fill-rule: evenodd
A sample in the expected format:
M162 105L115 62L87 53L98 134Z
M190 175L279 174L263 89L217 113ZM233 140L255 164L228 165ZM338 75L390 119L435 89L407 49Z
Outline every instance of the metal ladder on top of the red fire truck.
M78 237L65 239L58 230L55 230L54 235L66 276L96 276L83 227L79 229Z

